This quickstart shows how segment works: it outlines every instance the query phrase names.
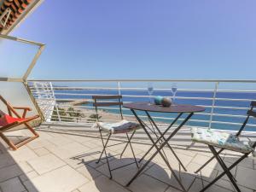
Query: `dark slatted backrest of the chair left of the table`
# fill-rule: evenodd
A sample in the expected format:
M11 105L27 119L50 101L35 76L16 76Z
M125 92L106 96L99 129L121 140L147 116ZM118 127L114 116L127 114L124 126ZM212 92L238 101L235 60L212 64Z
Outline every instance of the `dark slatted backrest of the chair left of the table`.
M92 96L92 99L94 100L93 106L96 108L96 119L99 120L98 107L108 107L108 106L119 106L119 112L120 112L121 118L124 119L123 112L122 112L122 105L123 105L122 98L123 97L119 95Z

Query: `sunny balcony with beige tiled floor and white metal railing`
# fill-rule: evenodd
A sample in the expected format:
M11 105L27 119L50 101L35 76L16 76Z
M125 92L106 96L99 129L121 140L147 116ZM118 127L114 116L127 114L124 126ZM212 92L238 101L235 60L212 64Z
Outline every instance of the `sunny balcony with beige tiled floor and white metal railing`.
M190 127L201 126L236 131L236 128L241 126L242 120L246 117L245 111L249 102L255 98L256 90L250 89L255 82L159 80L154 82L155 95L170 92L169 88L161 86L173 81L178 82L180 86L176 102L193 103L207 108L206 112L199 113L189 120L188 124L170 142L188 172L183 172L171 151L164 148L167 159L185 188L189 192L198 192L223 171L218 166L218 162L213 160L201 172L195 173L195 170L205 163L212 156L212 153L206 145L191 143ZM98 130L93 127L95 119L91 115L95 111L91 106L91 96L122 94L124 102L148 101L150 96L147 95L145 82L148 80L28 81L30 94L36 101L35 104L38 106L44 122L36 128L40 137L27 143L25 147L11 151L4 143L1 144L0 189L3 192L181 191L160 155L154 158L147 169L129 187L125 187L125 184L137 172L135 164L114 171L112 180L108 178L106 161L96 165L96 160L102 151L102 142ZM241 89L241 84L243 89ZM244 86L243 84L248 85ZM231 87L231 89L224 89L222 85ZM101 120L113 122L119 120L116 110L117 108L101 108ZM135 121L128 109L122 108L122 110L126 119ZM73 111L82 115L73 116L71 115ZM145 118L143 113L140 115ZM154 119L157 119L160 129L164 130L173 117L160 116L160 114L155 113ZM250 121L242 139L249 137L254 141L256 137L254 128L255 121ZM21 139L20 136L26 137L26 134L25 130L8 133L9 137L17 141ZM124 138L124 136L113 137L110 143L118 143ZM151 146L143 130L137 131L132 143L138 159ZM109 154L113 155L110 161L112 166L121 166L133 160L129 150L120 159L119 154L122 149L122 145L109 148ZM225 150L221 157L227 165L230 165L239 156L234 152ZM146 158L146 160L148 159ZM256 159L253 156L248 157L239 166L233 168L232 173L236 177L241 191L254 192L256 190L254 182ZM222 177L207 191L228 192L236 191L236 189L233 189L227 177Z

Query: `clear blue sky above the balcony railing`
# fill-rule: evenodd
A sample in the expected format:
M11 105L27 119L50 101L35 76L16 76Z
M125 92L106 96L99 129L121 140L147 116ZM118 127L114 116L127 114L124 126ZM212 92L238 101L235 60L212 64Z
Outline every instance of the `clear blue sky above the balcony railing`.
M34 79L256 79L255 0L45 0Z

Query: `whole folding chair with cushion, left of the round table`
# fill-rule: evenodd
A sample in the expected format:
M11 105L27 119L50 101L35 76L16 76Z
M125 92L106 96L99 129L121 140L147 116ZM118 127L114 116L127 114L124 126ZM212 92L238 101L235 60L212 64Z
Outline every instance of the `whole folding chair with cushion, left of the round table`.
M111 179L112 171L114 171L114 170L117 170L124 166L129 166L133 163L136 163L136 165L138 167L137 159L135 157L134 150L131 146L131 139L134 136L137 129L139 129L141 126L137 123L134 123L134 122L124 119L123 113L122 113L122 105L123 105L123 102L121 101L122 96L92 96L92 99L94 100L93 106L96 108L96 125L99 128L101 139L102 139L102 146L103 146L102 153L99 157L99 160L96 161L96 164L98 164L102 160L102 154L104 153L105 154L104 159L107 160L108 171L109 171L109 175L110 175L110 179ZM109 100L111 100L111 101L109 101ZM119 113L120 113L121 119L122 119L121 121L119 121L117 123L100 122L98 107L108 107L108 106L119 106ZM104 142L103 132L107 133L107 135L106 135L107 140L105 142ZM128 135L129 132L131 132L130 137ZM113 136L115 134L121 134L121 133L123 133L123 134L125 133L127 141L108 145L108 141L111 136ZM115 167L115 168L111 169L111 167L109 165L109 158L111 158L112 156L108 156L106 148L110 148L110 147L113 147L113 146L116 146L119 144L123 144L123 143L126 143L126 144L125 144L125 148L123 149L122 153L120 154L120 158L122 158L123 154L125 153L125 149L129 145L131 148L131 153L134 158L134 162L126 164L124 166L119 166L119 167ZM115 156L115 155L113 155L113 156Z

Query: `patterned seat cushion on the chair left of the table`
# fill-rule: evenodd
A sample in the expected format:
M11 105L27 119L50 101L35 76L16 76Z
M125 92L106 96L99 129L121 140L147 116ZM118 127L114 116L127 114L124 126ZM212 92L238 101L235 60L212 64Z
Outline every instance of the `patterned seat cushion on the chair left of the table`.
M127 133L136 131L141 128L141 125L123 119L116 123L97 122L97 125L103 130L111 132L112 134Z

